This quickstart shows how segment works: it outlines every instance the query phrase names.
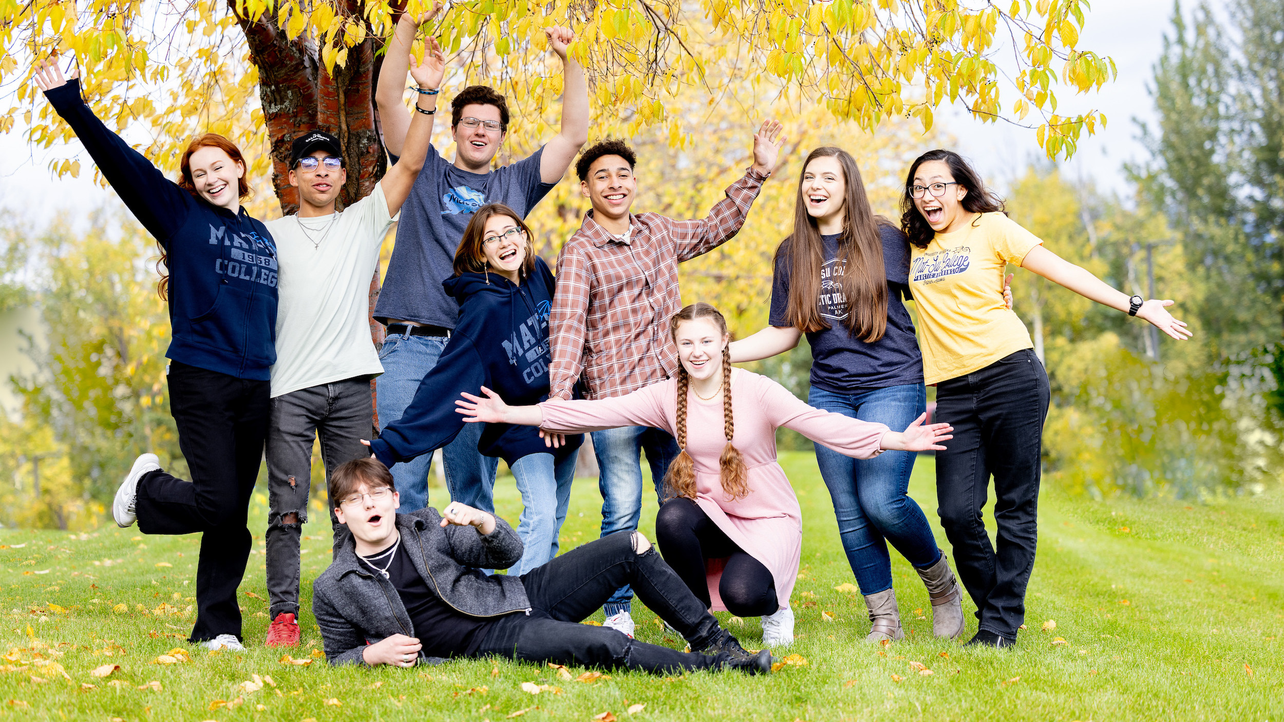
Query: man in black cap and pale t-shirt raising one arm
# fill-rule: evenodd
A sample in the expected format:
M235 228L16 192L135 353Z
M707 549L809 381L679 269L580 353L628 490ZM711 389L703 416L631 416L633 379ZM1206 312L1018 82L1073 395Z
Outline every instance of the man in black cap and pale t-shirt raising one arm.
M425 50L411 73L420 87L437 89L446 60L435 41ZM299 536L308 514L312 442L320 434L329 475L365 455L360 439L372 428L370 379L383 367L370 340L367 292L388 227L428 154L437 96L417 101L402 158L370 195L342 212L335 206L348 171L339 139L322 130L295 137L289 179L299 211L267 222L281 266L267 436L268 646L299 642ZM344 527L333 511L330 524L338 549Z

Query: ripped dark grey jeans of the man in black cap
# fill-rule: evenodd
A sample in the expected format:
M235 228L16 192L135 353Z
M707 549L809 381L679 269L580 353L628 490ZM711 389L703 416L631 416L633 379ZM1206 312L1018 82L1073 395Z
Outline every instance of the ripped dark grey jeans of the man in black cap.
M370 378L356 376L317 384L277 396L271 402L267 434L267 565L268 619L299 613L299 538L308 520L312 491L312 442L321 439L321 462L329 479L340 465L370 456L361 439L371 438L374 403ZM331 556L348 527L334 514L338 502L326 500L331 531ZM288 516L294 514L293 520Z

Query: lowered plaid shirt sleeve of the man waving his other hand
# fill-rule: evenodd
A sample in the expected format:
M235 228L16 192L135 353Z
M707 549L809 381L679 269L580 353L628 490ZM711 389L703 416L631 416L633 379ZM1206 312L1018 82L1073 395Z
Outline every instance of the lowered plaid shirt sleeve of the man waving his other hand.
M593 276L579 253L562 247L557 256L557 285L548 315L548 340L552 364L548 366L548 398L570 400L571 389L584 373L584 337L588 333L588 299Z

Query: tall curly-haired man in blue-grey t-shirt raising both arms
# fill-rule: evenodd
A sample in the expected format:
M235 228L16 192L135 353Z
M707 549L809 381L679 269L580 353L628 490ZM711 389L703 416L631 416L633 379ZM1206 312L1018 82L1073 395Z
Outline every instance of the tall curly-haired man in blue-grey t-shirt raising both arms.
M408 49L419 23L402 15L380 71L376 94L384 144L390 155L402 153L408 113L397 81L404 77ZM453 274L455 252L473 213L487 203L503 203L521 217L561 180L575 153L588 139L588 90L584 71L566 54L574 40L569 28L546 28L548 44L562 60L561 131L525 159L492 167L508 128L508 105L494 89L465 87L451 101L455 159L434 146L397 225L397 245L388 263L374 316L388 326L380 349L384 375L376 382L380 427L401 419L424 376L437 365L458 321L458 304L442 281ZM478 452L482 427L470 424L442 450L451 498L493 510L497 460ZM403 509L428 505L428 474L433 455L395 464Z

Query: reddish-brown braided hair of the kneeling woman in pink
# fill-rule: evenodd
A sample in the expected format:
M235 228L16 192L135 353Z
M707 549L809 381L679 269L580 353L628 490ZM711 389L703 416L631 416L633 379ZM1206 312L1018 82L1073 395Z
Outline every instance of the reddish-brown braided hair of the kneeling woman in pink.
M669 335L677 339L678 326L686 321L696 319L713 319L723 337L727 337L727 319L716 308L707 303L692 303L673 315L669 320ZM687 369L678 364L678 446L682 453L669 464L669 473L664 482L673 496L696 498L696 464L687 453L687 389L691 388L691 376ZM745 457L740 450L731 443L736 436L736 420L732 416L731 405L731 346L723 348L723 436L727 437L727 446L723 447L718 466L722 475L723 493L725 501L733 501L749 496L749 470L745 468Z

